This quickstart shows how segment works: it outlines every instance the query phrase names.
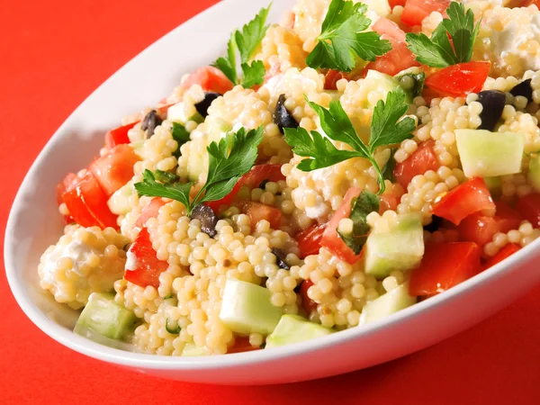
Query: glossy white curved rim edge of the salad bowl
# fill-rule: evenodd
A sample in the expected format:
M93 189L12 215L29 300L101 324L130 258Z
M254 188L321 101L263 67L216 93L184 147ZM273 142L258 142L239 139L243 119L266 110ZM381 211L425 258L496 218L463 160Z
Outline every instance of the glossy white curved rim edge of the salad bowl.
M238 1L238 0L237 0ZM213 4L211 7L202 11L200 14L196 14L187 22L197 23L199 19L204 18L207 14L219 13L223 7L229 7L229 4L233 3L233 0L222 1L217 4ZM27 174L24 176L23 183L16 193L12 208L9 213L9 217L6 223L5 236L4 236L4 266L5 274L7 276L8 284L16 302L19 304L26 316L46 335L54 340L58 341L61 345L69 347L72 350L81 353L85 356L90 356L95 359L99 359L108 363L117 365L125 365L135 368L147 368L154 370L217 370L228 367L236 367L241 365L253 365L255 363L266 363L279 359L283 359L289 356L300 356L328 347L338 346L356 340L359 338L365 338L375 335L384 329L394 328L401 325L404 322L408 322L411 319L419 317L422 313L427 311L435 311L437 307L444 302L452 302L460 295L467 292L472 292L475 287L480 284L490 283L496 281L498 278L503 277L511 271L513 267L519 266L520 263L525 262L527 256L533 252L534 249L540 247L540 238L536 239L533 243L527 247L523 247L517 253L511 257L505 259L503 262L492 266L491 268L483 271L479 275L475 275L473 278L466 280L462 284L458 284L445 293L438 294L429 300L418 302L415 305L410 306L404 310L398 311L383 320L377 320L372 323L362 325L360 328L351 328L341 330L338 333L332 333L328 336L312 339L309 341L295 343L284 347L272 347L265 350L256 350L246 353L229 354L227 356L157 356L152 354L128 352L112 347L107 347L94 341L83 338L76 335L72 330L66 329L60 326L58 323L49 319L40 309L31 301L29 294L26 291L22 280L17 277L17 269L15 266L14 258L14 226L17 222L17 218L23 215L23 195L25 190L31 186L31 174L36 170L37 166L45 161L49 155L49 149L53 147L58 141L58 132L63 130L70 121L73 121L73 117L80 109L85 107L85 103L89 98L93 96L104 85L107 85L115 76L121 75L124 67L130 65L130 63L141 58L147 49L153 47L157 42L166 40L166 38L172 34L173 31L182 27L185 23L179 25L172 31L166 33L163 37L150 44L146 49L143 49L137 56L131 58L125 65L120 67L115 73L107 78L102 85L99 85L91 94L89 94L85 100L80 103L76 109L68 116L58 130L55 131L53 136L49 139L45 147L40 151L39 156L32 163Z

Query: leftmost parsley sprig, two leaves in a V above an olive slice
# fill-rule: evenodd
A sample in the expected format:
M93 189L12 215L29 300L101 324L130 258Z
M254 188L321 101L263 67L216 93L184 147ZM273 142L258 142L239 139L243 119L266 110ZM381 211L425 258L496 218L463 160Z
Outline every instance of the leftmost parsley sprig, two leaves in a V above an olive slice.
M263 140L263 128L246 132L240 128L236 134L229 133L220 142L208 146L208 176L206 183L192 199L190 193L193 183L160 183L161 174L145 170L143 181L134 184L139 195L170 198L185 205L187 215L202 202L217 201L232 191L239 178L255 164L257 147Z

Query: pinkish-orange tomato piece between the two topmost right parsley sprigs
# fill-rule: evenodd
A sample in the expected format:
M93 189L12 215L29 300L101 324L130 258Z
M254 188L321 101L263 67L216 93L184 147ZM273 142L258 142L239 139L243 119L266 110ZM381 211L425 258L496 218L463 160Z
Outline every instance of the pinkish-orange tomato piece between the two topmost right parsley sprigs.
M377 58L374 62L370 62L365 67L365 71L372 69L394 76L400 73L401 70L420 66L414 54L407 48L405 32L400 29L398 24L387 18L380 18L377 23L374 23L373 29L381 35L383 40L390 40L392 50Z

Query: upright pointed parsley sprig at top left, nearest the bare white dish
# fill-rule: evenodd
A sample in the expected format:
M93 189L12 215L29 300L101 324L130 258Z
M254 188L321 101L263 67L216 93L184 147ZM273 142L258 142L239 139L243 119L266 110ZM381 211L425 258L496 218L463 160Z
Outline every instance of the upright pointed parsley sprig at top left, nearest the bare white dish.
M227 57L218 58L212 65L219 68L235 85L241 84L244 88L251 88L254 85L260 85L265 80L266 69L263 62L254 60L249 63L249 59L253 57L253 53L266 34L268 29L266 17L271 6L272 4L262 8L253 20L242 27L242 31L232 32L227 44ZM237 71L238 52L243 73L241 79L238 78Z

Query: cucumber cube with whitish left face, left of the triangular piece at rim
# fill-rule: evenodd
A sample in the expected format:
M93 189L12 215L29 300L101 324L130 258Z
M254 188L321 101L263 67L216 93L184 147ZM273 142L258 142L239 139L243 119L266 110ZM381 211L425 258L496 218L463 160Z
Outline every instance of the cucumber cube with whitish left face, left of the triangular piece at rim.
M270 290L260 285L227 279L220 320L239 334L269 335L283 313L270 302L270 296Z

